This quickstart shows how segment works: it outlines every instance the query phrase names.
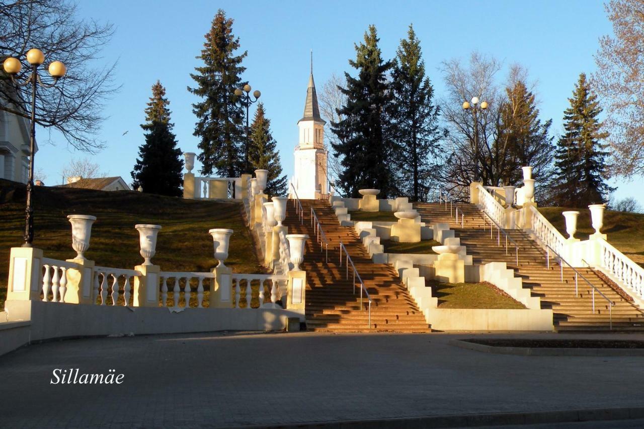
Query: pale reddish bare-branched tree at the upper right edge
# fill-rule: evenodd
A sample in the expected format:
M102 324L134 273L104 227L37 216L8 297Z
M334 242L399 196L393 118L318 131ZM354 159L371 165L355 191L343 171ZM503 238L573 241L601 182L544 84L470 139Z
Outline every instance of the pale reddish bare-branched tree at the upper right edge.
M592 84L600 95L605 130L614 149L612 173L644 173L644 2L611 0L606 11L614 37L600 39L595 55L598 70Z

